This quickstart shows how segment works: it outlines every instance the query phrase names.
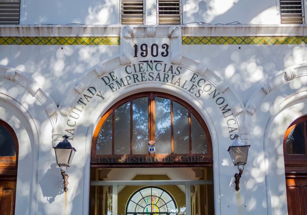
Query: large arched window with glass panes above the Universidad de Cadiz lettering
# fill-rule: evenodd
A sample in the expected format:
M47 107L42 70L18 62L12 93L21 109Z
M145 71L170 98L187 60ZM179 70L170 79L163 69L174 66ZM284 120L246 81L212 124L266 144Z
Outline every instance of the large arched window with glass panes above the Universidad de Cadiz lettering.
M200 115L187 102L159 92L132 95L103 115L94 132L91 162L99 163L99 156L149 154L149 141L155 141L155 156L161 159L201 155L212 162L210 135Z

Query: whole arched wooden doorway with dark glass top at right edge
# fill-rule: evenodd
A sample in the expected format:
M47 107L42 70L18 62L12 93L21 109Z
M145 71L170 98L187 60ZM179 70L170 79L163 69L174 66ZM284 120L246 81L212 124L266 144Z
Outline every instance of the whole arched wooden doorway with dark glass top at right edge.
M307 213L307 116L296 119L284 137L288 214Z

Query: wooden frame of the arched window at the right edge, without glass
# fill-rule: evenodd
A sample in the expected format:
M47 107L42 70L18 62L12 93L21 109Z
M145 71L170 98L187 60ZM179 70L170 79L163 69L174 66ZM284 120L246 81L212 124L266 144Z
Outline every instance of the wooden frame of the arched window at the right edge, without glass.
M304 143L305 143L305 154L286 154L286 141L292 131L292 129L299 123L304 123ZM306 122L306 123L305 123ZM283 139L283 150L285 159L285 172L286 174L291 173L307 173L307 115L299 117L293 121L288 127L284 139Z

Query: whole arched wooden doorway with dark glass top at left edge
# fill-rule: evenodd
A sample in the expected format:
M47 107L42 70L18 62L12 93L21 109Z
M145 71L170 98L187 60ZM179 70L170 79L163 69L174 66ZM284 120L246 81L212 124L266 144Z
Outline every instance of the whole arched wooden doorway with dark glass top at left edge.
M15 210L18 142L13 129L0 120L0 214Z

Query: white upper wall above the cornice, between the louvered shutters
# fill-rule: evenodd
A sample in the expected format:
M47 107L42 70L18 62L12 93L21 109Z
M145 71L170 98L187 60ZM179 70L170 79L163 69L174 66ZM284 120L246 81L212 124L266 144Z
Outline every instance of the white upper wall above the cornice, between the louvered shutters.
M182 24L280 24L279 2L275 0L182 0L181 7ZM146 1L145 8L145 24L157 24L156 1ZM24 0L20 24L116 25L120 24L120 10L120 0Z

